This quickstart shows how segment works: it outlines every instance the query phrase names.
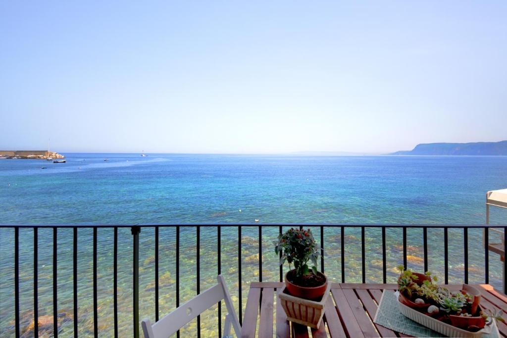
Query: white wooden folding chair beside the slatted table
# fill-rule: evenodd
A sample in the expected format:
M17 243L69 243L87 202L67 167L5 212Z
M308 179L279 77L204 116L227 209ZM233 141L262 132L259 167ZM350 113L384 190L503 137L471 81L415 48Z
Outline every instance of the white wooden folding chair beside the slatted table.
M218 280L218 284L190 299L190 301L179 306L155 324L152 325L149 319L144 319L141 322L144 338L168 338L171 334L204 312L204 310L209 309L222 301L222 299L225 301L227 311L229 312L225 318L223 335L230 335L232 324L236 336L239 337L241 325L232 306L231 295L225 284L224 277L219 275L216 277L216 280Z

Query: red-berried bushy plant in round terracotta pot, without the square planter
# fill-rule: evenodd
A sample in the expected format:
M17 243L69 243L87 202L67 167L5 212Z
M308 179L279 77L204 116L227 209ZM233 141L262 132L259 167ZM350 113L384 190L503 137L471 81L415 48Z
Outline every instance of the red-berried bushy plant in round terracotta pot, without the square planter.
M289 271L285 274L285 285L290 294L305 299L322 297L328 285L328 278L317 271L319 250L310 229L291 228L278 236L274 242L275 253L282 253L280 265L285 261ZM308 262L312 266L308 266ZM291 269L294 264L294 269Z

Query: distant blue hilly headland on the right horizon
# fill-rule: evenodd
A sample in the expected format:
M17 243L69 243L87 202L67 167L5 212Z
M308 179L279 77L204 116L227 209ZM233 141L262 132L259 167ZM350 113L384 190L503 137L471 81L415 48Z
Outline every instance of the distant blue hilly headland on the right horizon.
M507 156L507 141L472 143L421 143L409 151L390 155L496 155Z

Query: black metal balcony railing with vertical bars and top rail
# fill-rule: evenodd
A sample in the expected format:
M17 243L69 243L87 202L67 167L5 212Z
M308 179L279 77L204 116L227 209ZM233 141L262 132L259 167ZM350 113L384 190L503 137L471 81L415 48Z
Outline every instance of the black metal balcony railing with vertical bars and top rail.
M218 274L222 273L222 232L221 229L223 227L237 227L237 236L238 236L238 251L237 251L237 261L238 261L238 308L239 308L239 321L242 322L242 308L243 308L243 299L242 299L242 228L258 228L258 241L259 241L259 281L263 281L263 245L262 245L262 231L263 228L278 228L278 233L281 234L283 227L318 227L319 228L319 237L320 237L320 245L323 248L324 245L324 236L325 230L329 228L334 228L340 230L340 244L341 244L341 282L345 283L346 281L346 270L345 270L345 229L347 228L359 228L361 231L360 243L361 243L361 274L362 274L362 282L366 282L366 245L365 245L365 231L369 228L379 228L382 231L382 282L387 282L387 257L386 257L386 229L396 228L403 230L403 265L407 268L407 229L422 229L423 231L423 260L424 260L424 270L428 270L428 229L443 229L444 230L444 283L447 284L449 281L449 229L462 229L463 230L463 265L464 265L464 283L468 283L468 230L469 229L483 229L484 233L484 283L489 283L489 230L490 228L497 228L504 231L503 240L507 242L507 226L489 226L489 225L404 225L404 224L146 224L146 225L118 225L118 226L48 226L48 225L40 225L40 226L21 226L21 225L0 225L0 230L2 229L14 229L14 309L15 309L15 335L17 337L20 336L20 291L19 291L19 282L20 282L20 273L19 273L19 232L20 229L28 228L33 229L33 316L34 322L38 323L38 298L39 298L39 285L38 285L38 248L39 248L39 229L50 228L53 229L53 332L54 336L58 336L58 283L57 283L57 274L58 274L58 229L63 228L72 228L73 229L73 315L74 315L74 335L78 336L78 276L80 272L78 271L78 229L88 228L93 230L93 334L95 337L98 336L98 314L97 314L97 230L100 228L109 228L114 230L113 237L113 302L114 302L114 334L115 337L118 337L118 230L121 228L130 228L132 234L132 245L133 245L133 255L132 255L132 285L133 285L133 304L132 304L132 335L134 337L139 336L139 234L142 232L142 229L145 228L155 228L155 314L154 318L156 320L159 319L159 229L171 227L175 230L175 306L178 307L180 305L180 229L186 227L195 227L196 228L196 294L200 292L200 244L201 244L201 228L203 227L216 227L216 236L217 236L217 245L216 245L216 254L217 254L217 270ZM254 228L255 229L255 228ZM281 253L280 253L281 256ZM321 271L324 272L324 263L325 263L325 255L321 256L320 259L320 268ZM507 268L507 259L504 259L502 262L502 268ZM279 281L283 280L283 270L280 266L279 268ZM503 290L505 293L505 285L503 285ZM200 317L197 317L197 335L200 336ZM222 336L221 332L222 328L222 314L221 314L221 306L219 304L218 307L218 336ZM38 325L34 326L34 334L38 336ZM178 332L179 337L179 332Z

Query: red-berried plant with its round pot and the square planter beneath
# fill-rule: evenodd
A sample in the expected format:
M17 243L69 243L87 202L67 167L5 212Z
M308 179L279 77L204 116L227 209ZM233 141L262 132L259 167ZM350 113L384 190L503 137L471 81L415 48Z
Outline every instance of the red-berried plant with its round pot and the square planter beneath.
M281 254L280 265L285 261L289 264L285 286L278 295L287 319L318 328L331 284L324 274L317 271L319 249L311 230L289 229L273 244L275 253ZM308 265L310 261L311 267Z

